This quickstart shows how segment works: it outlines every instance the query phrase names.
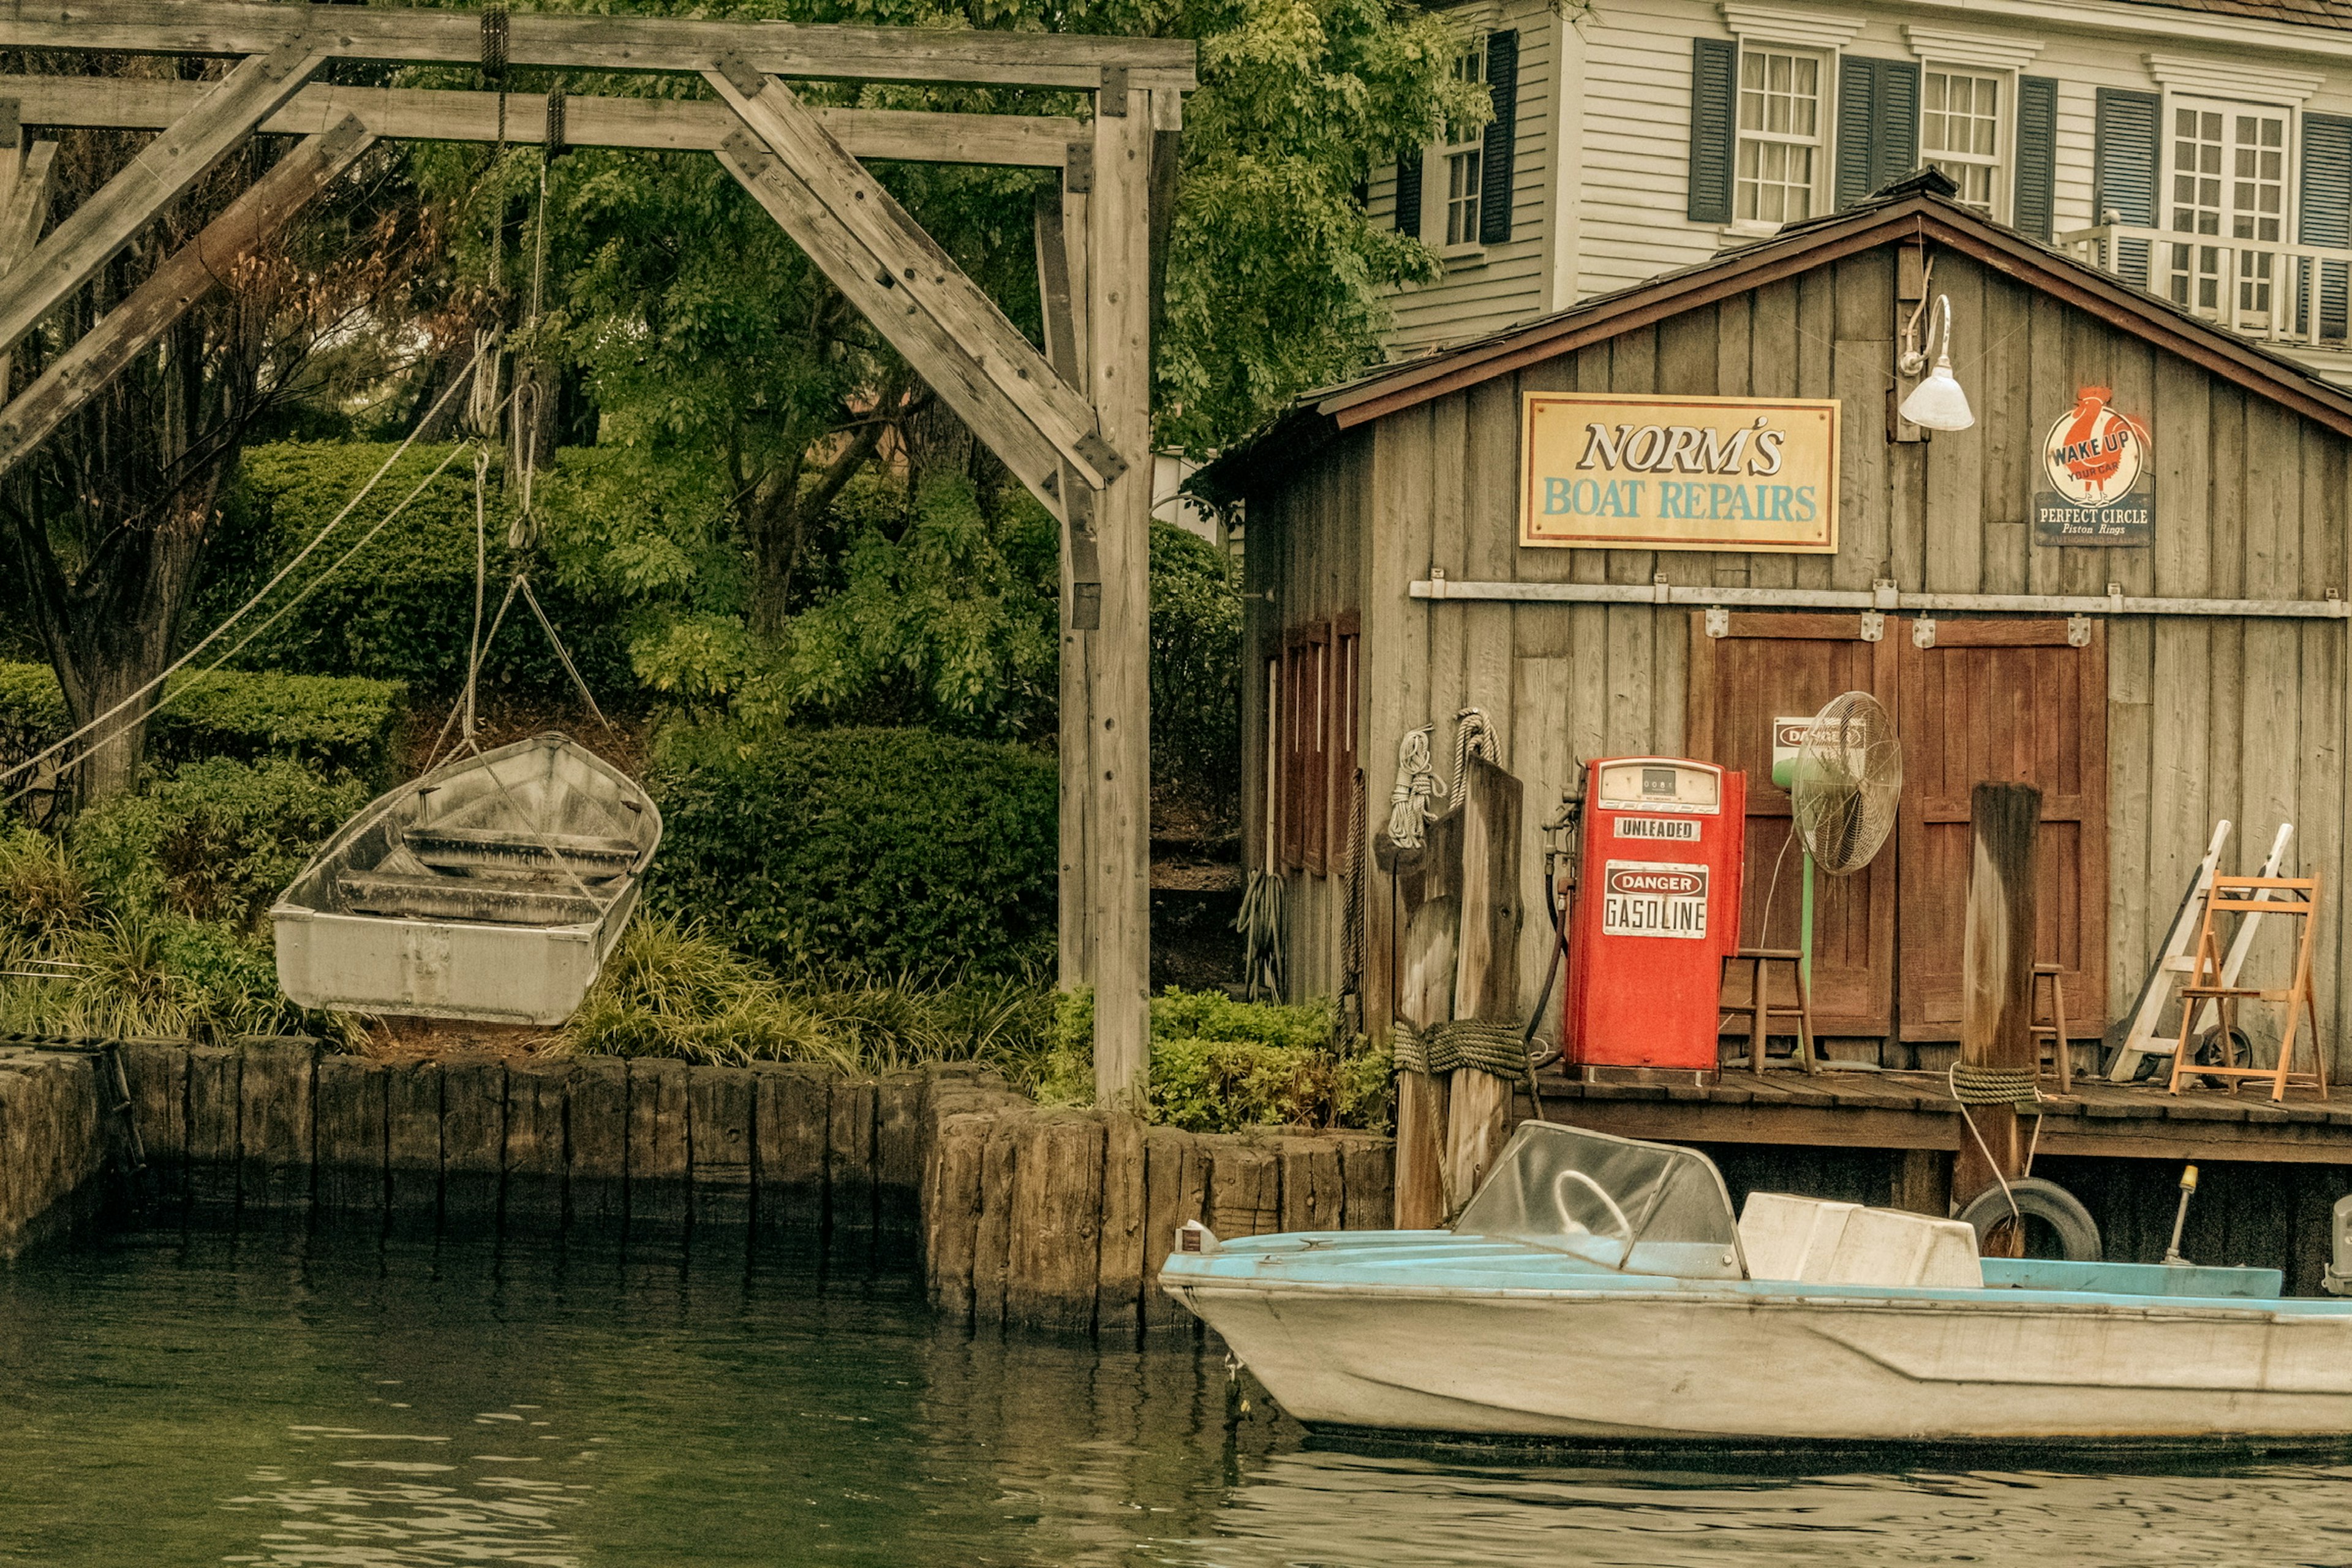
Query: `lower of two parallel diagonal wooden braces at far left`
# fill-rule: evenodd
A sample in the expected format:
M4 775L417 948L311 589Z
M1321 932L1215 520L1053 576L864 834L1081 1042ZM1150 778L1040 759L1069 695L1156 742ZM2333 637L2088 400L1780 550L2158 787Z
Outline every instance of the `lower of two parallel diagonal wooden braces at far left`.
M172 322L221 284L223 273L252 256L374 141L376 136L355 115L346 115L339 125L303 139L195 240L179 247L0 411L0 473L21 463L99 388L146 353Z

